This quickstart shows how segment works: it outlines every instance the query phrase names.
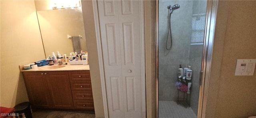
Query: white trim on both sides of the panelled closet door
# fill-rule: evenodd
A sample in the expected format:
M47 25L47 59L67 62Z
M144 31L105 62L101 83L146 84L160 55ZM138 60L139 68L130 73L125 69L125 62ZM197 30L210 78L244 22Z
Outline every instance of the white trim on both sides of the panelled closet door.
M103 108L104 108L104 117L109 118L108 116L108 103L107 103L107 94L106 94L106 82L104 74L104 64L103 64L103 54L102 54L102 45L101 45L101 36L100 36L100 21L98 16L98 4L97 0L92 0L93 14L94 14L94 23L96 30L96 42L98 50L98 61L100 68L100 81L102 88L102 99L103 99ZM145 38L144 38L144 2L140 0L140 36L141 40L141 72L142 72L142 117L146 118L146 70L145 70Z

